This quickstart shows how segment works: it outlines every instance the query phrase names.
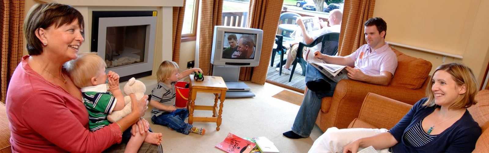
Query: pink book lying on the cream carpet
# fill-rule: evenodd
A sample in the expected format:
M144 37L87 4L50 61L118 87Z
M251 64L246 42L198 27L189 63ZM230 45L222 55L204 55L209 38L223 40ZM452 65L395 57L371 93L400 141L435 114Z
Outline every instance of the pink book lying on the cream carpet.
M250 153L255 148L255 143L229 133L224 141L216 145L216 148L227 153Z

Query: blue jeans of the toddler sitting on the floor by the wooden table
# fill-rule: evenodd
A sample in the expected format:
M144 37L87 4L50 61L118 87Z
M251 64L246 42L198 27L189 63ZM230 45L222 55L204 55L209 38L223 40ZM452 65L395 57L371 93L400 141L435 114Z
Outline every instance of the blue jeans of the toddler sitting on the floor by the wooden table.
M151 121L153 121L154 124L170 127L179 133L188 134L192 125L185 123L185 118L187 117L187 109L177 109L171 113L163 113L158 116L153 115Z

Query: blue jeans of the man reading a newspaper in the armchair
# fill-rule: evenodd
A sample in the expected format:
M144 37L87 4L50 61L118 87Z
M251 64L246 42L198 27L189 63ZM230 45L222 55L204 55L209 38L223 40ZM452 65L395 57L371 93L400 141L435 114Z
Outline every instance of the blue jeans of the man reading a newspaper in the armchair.
M319 70L308 63L308 66L306 67L306 82L320 78L328 81L331 84L331 88L320 92L308 90L306 94L304 94L301 107L299 108L299 112L297 112L294 124L292 125L292 132L299 134L302 137L308 137L311 134L312 128L314 128L317 115L321 109L321 98L333 96L334 88L336 88L336 82L324 76Z

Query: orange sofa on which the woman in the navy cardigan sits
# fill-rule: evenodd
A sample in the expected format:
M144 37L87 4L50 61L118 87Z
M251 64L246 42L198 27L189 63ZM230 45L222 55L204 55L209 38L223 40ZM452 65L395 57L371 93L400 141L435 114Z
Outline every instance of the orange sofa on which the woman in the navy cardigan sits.
M489 90L480 91L475 100L477 104L468 108L470 115L482 128L474 153L487 153L489 150ZM379 107L382 106L382 107ZM360 110L348 128L385 128L390 129L411 109L412 105L369 93ZM379 113L381 112L381 113Z

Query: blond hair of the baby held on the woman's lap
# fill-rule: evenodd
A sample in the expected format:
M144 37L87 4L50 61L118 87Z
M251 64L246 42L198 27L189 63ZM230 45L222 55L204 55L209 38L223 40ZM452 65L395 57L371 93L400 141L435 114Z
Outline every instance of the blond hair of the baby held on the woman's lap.
M65 63L68 75L78 88L89 86L90 79L98 76L100 69L105 67L104 59L96 53L80 53L76 59Z

